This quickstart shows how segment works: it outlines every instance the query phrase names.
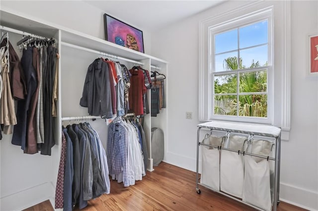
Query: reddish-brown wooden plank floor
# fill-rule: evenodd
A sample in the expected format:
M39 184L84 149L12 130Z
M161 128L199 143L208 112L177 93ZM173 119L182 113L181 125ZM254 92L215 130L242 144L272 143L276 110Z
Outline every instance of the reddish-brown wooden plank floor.
M147 171L142 181L125 188L123 183L111 181L109 195L90 200L83 211L253 211L226 196L201 187L195 190L195 172L161 162L155 171ZM49 201L26 209L27 211L52 211ZM281 202L278 211L304 211Z

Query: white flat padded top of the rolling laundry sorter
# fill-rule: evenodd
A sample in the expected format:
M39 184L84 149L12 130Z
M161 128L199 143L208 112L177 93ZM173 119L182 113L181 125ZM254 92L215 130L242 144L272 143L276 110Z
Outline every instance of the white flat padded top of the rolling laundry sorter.
M236 133L245 133L267 137L278 137L280 136L281 129L279 127L270 125L257 125L248 123L232 123L232 122L205 122L198 124L197 127L209 128L213 130L229 131Z

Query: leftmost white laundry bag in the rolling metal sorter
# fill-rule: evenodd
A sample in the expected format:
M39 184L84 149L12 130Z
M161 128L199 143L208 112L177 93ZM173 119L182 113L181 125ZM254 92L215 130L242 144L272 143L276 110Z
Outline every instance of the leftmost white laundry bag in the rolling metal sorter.
M221 146L223 137L210 136L203 141L204 144ZM203 146L202 172L200 182L214 190L220 191L220 151L213 147Z

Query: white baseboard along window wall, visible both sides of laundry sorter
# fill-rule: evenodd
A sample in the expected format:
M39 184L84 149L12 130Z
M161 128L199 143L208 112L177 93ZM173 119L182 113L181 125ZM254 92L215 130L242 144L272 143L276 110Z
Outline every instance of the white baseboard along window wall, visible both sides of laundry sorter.
M167 152L165 162L196 171L196 159ZM201 172L201 157L199 157L199 173ZM318 211L318 192L296 187L284 182L280 183L280 200L310 211Z

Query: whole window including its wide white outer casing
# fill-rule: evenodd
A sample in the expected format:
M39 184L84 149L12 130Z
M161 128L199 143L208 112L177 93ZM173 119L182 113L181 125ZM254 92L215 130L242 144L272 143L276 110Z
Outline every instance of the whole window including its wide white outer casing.
M290 4L227 1L200 22L200 121L271 124L282 128L282 140L289 139ZM257 81L252 83L257 86L244 81ZM249 104L240 104L244 101Z

